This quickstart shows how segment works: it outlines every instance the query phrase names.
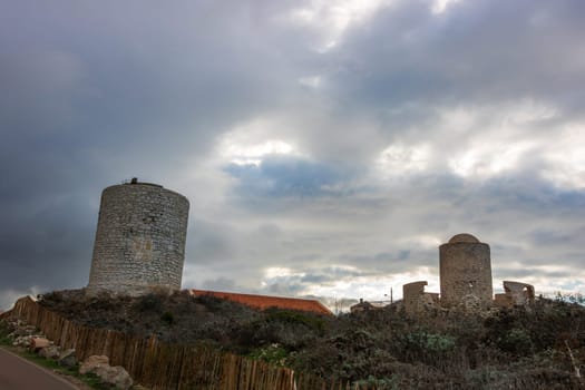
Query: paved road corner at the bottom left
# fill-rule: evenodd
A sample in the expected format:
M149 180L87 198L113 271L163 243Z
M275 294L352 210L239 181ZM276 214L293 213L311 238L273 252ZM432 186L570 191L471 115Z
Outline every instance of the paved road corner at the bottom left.
M77 390L65 379L0 348L0 390Z

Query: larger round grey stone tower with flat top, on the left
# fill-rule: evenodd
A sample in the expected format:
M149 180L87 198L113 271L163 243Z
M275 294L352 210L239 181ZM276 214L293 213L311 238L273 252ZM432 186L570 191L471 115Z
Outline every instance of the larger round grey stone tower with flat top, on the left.
M181 289L188 209L185 196L136 178L104 189L87 293Z

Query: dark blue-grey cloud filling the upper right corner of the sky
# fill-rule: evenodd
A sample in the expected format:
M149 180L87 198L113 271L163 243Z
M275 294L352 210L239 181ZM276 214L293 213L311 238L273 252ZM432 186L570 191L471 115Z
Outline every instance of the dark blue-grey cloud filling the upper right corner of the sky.
M345 66L332 85L378 107L523 96L578 103L584 16L578 1L461 1L441 16L426 1L398 1L340 45L335 59Z

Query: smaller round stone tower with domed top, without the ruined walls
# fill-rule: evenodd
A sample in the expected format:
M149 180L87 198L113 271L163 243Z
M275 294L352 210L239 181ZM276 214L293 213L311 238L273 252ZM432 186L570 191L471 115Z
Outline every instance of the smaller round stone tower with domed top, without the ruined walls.
M471 234L457 234L439 246L440 302L449 308L476 300L482 306L493 302L489 245Z

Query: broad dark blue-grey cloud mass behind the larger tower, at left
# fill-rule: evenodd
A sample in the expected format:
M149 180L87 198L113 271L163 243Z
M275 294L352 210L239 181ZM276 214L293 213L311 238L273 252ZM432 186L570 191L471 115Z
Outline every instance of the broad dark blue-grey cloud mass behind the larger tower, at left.
M270 3L1 8L0 287L85 284L103 187L163 181L283 95Z

